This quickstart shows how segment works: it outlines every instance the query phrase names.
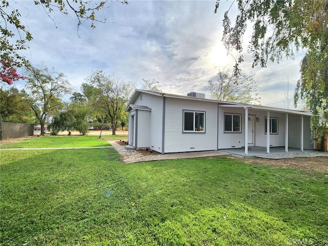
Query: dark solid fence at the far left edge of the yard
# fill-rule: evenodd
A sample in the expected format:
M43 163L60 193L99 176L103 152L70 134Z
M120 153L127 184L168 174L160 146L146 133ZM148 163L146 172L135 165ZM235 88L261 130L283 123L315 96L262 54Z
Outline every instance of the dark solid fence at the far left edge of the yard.
M0 140L33 136L34 124L1 122Z

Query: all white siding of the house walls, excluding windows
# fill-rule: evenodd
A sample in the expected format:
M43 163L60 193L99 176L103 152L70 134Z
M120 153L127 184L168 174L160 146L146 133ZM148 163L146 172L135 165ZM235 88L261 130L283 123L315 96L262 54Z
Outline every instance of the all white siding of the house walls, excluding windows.
M131 104L151 108L151 111L136 109L138 119L134 119L138 120L138 129L135 129L138 136L134 141L137 142L137 147L150 147L159 153L175 153L241 148L245 145L244 108L218 107L216 102L162 97L149 93L140 93ZM163 116L164 108L165 116ZM183 133L183 110L205 112L204 133ZM133 113L133 110L130 113ZM224 113L241 115L241 133L224 133ZM267 111L249 108L248 113L255 116L255 145L267 146L267 134L265 134ZM278 134L270 135L272 147L285 145L285 117L284 112L270 111L270 118L278 119ZM289 147L300 148L300 119L299 115L289 114ZM307 116L304 116L304 148L313 149L310 117Z

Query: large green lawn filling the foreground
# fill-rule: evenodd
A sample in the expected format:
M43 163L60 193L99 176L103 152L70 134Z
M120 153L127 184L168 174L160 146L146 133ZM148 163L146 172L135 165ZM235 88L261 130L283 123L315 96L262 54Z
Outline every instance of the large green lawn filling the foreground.
M0 155L2 245L328 243L320 173L228 158L126 164L113 148Z

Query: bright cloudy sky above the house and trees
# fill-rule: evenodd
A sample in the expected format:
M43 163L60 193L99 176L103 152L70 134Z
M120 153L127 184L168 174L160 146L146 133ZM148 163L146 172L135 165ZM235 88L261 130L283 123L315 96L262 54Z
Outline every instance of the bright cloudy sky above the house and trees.
M80 91L93 70L102 69L136 88L141 88L142 79L154 79L165 93L194 91L210 99L208 81L234 65L221 42L223 13L232 3L221 1L214 14L214 0L130 1L129 5L108 1L107 8L96 13L96 18L105 16L107 23L95 23L92 29L90 22L77 28L72 13L53 11L52 20L42 6L18 1L17 8L33 36L23 54L32 65L44 63L63 72L75 91ZM236 3L231 16L236 14L235 7ZM286 108L284 92L289 82L292 97L303 53L294 60L252 68L252 58L246 53L250 35L244 36L242 70L254 75L261 105Z

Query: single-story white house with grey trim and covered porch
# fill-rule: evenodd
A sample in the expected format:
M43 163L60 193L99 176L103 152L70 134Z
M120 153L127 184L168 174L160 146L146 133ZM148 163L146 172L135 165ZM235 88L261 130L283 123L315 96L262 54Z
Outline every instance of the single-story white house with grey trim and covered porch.
M166 154L260 146L314 149L310 112L135 90L127 148L150 147ZM245 120L246 119L246 120ZM269 134L268 134L269 133ZM247 146L247 147L245 147Z

